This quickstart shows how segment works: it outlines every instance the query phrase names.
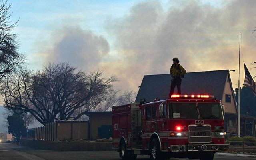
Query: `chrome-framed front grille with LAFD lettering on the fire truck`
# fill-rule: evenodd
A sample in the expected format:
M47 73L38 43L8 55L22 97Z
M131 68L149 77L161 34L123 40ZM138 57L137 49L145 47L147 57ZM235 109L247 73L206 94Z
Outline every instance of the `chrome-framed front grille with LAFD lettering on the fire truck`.
M212 142L212 133L210 125L189 125L188 142L189 143L210 143Z

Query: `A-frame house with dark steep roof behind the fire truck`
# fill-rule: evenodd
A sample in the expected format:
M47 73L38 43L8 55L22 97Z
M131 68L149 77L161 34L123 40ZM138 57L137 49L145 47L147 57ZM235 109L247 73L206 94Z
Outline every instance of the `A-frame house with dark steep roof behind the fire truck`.
M168 99L170 92L170 74L146 75L143 77L140 89L138 91L136 102L145 99L146 102L152 102L156 97L164 100ZM177 92L175 88L174 93ZM215 70L205 72L189 72L182 78L182 94L208 94L214 95L220 99L225 106L225 130L229 135L237 134L238 111L234 98L234 92L228 70ZM250 128L246 128L247 122L250 121ZM250 133L254 136L254 122L252 117L241 116L241 133ZM244 126L244 127L243 127ZM242 135L242 134L241 134Z

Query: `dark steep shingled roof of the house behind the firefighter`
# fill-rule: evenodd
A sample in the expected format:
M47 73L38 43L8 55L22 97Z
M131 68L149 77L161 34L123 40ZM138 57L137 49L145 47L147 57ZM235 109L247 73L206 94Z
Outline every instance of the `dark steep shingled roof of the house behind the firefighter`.
M208 94L222 99L228 70L215 70L205 72L189 72L182 78L181 94ZM138 91L136 102L145 98L147 102L156 97L161 100L168 99L170 92L170 74L146 75ZM177 87L174 94L177 92Z

